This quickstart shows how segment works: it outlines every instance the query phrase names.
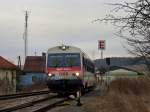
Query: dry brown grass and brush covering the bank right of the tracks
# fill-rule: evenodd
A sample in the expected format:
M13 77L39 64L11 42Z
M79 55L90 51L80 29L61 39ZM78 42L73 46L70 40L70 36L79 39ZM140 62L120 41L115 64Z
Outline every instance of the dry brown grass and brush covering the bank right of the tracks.
M104 96L84 105L88 112L150 112L150 81L118 79Z

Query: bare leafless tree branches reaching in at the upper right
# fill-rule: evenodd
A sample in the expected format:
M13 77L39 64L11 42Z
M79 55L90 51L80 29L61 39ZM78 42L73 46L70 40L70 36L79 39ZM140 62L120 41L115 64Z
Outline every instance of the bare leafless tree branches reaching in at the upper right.
M110 22L116 26L116 35L127 41L128 51L144 58L150 71L150 0L109 5L114 6L110 14L95 21Z

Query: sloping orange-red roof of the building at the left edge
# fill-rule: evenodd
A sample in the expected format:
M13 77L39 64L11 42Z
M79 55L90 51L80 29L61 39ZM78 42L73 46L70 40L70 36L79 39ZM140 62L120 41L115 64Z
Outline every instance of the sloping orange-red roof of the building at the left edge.
M0 69L18 69L16 65L0 56Z

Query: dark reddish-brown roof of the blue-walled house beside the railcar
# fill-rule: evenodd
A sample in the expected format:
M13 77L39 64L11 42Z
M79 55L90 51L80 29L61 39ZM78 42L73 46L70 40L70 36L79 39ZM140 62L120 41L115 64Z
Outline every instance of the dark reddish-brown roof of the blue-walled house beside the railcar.
M44 72L46 58L44 56L27 56L24 64L24 72Z

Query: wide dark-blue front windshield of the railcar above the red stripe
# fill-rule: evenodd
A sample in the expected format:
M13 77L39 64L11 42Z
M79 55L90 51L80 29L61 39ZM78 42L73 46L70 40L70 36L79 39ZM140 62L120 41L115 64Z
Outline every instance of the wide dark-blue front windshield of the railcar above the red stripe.
M48 54L48 67L73 67L80 66L79 53Z

